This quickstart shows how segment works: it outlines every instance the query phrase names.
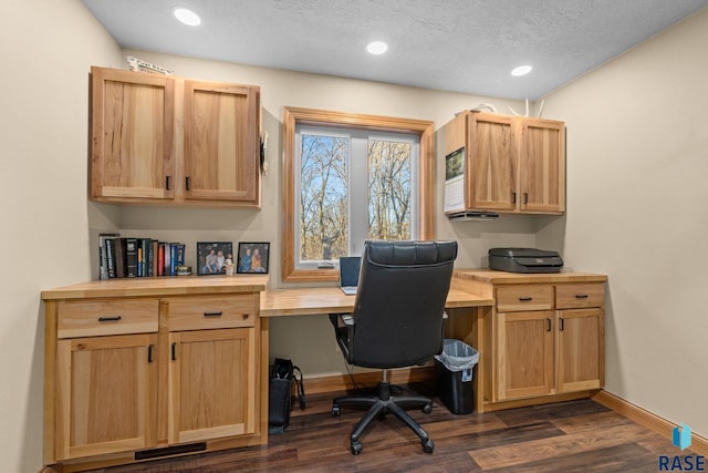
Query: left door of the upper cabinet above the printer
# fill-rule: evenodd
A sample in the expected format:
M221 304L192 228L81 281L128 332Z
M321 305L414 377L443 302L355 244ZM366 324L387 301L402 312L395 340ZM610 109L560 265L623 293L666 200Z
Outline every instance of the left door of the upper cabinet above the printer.
M517 140L512 116L471 113L465 179L468 208L517 208Z

